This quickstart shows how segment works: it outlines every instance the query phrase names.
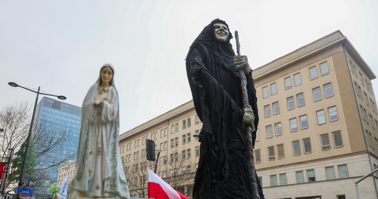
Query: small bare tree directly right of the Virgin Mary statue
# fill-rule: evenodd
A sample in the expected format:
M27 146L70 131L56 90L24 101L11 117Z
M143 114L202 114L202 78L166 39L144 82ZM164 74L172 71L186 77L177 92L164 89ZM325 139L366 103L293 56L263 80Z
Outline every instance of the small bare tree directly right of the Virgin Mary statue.
M139 157L135 161L125 162L122 159L125 177L129 186L130 196L148 198L147 187L147 167L152 162L147 161L144 157Z

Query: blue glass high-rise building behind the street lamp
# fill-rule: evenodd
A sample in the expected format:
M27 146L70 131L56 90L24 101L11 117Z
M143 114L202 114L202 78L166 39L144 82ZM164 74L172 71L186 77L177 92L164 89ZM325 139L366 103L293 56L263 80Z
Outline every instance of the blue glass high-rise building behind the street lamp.
M80 107L59 100L43 97L38 103L33 136L36 150L47 149L37 157L37 172L43 180L57 182L59 165L76 160L80 115Z

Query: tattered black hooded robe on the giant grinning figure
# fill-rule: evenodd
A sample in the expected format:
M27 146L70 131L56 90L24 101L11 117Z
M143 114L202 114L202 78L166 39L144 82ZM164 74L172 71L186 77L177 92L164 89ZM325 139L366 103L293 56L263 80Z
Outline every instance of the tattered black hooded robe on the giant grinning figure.
M248 174L248 153L239 71L234 66L234 50L229 40L214 38L214 23L206 26L191 45L186 72L198 117L200 160L194 180L193 199L253 199ZM259 122L256 89L252 73L246 74L249 104ZM253 143L256 131L253 132ZM257 176L256 176L257 178ZM259 182L258 182L259 184ZM263 198L259 187L260 198Z

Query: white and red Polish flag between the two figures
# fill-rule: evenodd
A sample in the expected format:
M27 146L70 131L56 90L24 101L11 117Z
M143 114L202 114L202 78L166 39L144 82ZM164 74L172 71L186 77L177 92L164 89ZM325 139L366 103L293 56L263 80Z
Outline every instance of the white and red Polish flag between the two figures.
M174 190L158 175L148 169L148 197L155 199L189 199L180 192Z

